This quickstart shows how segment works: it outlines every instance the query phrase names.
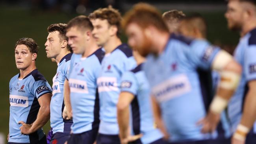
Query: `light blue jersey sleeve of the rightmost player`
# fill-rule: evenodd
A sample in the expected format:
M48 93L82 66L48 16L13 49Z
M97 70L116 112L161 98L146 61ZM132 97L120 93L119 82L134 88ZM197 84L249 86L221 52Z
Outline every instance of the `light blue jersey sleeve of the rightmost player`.
M256 45L251 45L246 48L244 71L246 81L256 79Z

